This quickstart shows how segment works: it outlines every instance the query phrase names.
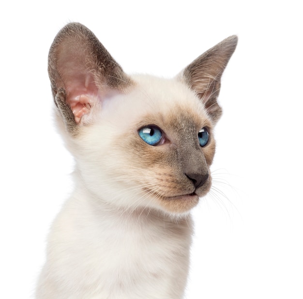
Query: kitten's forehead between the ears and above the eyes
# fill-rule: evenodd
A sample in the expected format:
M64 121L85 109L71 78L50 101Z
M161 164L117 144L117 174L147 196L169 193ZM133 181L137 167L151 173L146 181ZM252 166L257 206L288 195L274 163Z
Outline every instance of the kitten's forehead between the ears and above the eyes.
M172 130L195 130L211 126L201 100L177 79L136 77L134 90L142 111L141 125L164 126Z

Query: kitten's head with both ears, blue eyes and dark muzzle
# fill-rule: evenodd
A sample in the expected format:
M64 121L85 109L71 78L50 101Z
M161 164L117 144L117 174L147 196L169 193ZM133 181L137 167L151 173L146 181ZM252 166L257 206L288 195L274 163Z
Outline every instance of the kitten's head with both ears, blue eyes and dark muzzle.
M211 187L213 127L231 36L172 79L126 75L95 35L70 23L48 72L57 120L94 198L118 208L188 212Z

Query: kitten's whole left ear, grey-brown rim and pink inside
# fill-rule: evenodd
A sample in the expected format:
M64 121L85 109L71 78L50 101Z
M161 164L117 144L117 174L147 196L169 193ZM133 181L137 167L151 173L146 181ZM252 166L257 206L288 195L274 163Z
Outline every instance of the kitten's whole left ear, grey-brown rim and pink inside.
M55 37L48 74L56 106L72 134L91 122L104 99L132 85L96 36L79 23L66 25Z

